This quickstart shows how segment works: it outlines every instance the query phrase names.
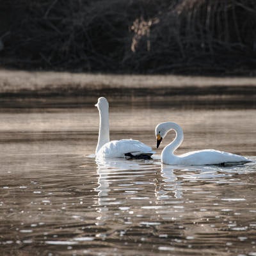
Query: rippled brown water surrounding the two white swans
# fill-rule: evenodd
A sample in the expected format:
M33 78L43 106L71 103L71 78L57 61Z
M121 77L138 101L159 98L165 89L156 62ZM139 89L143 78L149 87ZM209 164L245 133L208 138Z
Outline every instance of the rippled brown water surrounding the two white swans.
M256 255L255 163L97 163L93 107L5 109L0 120L1 255ZM184 129L177 154L215 148L256 160L255 109L110 106L111 139L155 147L164 121Z

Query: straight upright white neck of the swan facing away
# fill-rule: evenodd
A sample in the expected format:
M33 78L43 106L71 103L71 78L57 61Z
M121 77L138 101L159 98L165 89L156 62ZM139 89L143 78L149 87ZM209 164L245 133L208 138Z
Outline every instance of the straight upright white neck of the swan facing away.
M95 154L100 150L100 148L109 142L109 116L108 116L108 106L104 106L104 108L99 109L100 115L100 125L99 125L99 137L98 144L96 147Z

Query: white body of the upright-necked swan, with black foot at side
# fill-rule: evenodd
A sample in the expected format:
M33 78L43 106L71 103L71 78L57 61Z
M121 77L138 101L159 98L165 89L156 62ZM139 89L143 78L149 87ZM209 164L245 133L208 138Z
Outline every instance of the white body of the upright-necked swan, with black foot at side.
M113 140L103 145L97 153L97 158L151 156L155 152L151 147L138 140Z

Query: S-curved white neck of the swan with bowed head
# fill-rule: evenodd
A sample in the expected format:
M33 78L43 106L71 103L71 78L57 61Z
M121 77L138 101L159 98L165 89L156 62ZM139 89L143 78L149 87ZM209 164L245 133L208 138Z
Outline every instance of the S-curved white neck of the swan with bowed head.
M180 125L173 123L173 122L166 122L166 130L167 132L174 130L176 133L175 139L169 143L166 147L164 147L161 159L169 159L170 156L174 156L173 152L180 147L183 141L183 131Z

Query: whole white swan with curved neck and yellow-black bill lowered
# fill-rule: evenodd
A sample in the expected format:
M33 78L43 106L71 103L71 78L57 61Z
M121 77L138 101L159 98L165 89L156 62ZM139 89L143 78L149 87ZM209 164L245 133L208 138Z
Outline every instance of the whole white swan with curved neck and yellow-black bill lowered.
M198 150L188 152L180 156L175 156L173 152L181 145L183 141L182 128L173 122L164 122L156 126L157 148L166 134L174 130L176 133L175 139L164 147L161 154L161 161L164 164L173 165L205 165L205 164L234 164L234 163L248 163L250 159L231 154L228 152L222 152L214 149Z

